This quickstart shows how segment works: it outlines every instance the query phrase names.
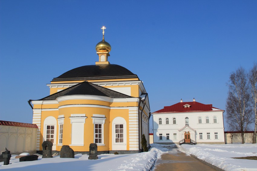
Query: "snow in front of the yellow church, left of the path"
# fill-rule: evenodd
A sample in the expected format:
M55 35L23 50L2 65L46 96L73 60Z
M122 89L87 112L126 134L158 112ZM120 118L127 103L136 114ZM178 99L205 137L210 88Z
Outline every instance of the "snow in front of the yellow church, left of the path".
M173 145L174 146L174 145ZM173 147L152 144L152 148L148 152L139 154L102 154L98 155L98 160L88 160L88 155L77 154L75 158L53 158L38 157L36 161L19 162L15 159L16 155L12 155L9 165L3 165L0 162L0 170L150 170L155 161L161 157L161 154L168 151L165 147Z

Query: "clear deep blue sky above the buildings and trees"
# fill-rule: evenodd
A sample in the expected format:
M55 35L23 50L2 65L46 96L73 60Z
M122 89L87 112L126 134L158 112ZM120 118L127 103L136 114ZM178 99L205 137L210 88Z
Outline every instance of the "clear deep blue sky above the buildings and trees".
M64 72L94 65L102 26L109 62L144 82L151 112L181 98L225 110L229 74L257 61L256 9L257 1L0 0L0 120L32 123L27 101L48 96L46 84Z

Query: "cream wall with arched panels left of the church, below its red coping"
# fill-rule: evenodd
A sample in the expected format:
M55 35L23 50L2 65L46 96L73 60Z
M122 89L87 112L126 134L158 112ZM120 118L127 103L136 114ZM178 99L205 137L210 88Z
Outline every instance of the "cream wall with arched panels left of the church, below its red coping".
M0 149L11 153L35 151L37 128L0 125Z

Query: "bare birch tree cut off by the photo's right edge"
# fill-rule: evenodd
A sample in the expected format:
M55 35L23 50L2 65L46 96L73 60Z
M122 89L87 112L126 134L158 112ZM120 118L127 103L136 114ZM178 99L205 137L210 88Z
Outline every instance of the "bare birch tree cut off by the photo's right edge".
M252 110L254 112L254 132L252 137L252 144L256 143L256 128L257 128L257 63L254 63L252 69L248 73Z

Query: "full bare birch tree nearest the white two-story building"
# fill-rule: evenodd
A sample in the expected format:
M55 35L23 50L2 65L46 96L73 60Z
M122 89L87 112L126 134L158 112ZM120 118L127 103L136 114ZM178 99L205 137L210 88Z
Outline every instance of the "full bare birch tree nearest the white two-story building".
M247 126L253 121L245 69L240 67L235 72L232 72L227 85L229 91L226 102L226 120L229 125L233 125L236 130L241 132L242 144L244 144L244 133L247 130Z

